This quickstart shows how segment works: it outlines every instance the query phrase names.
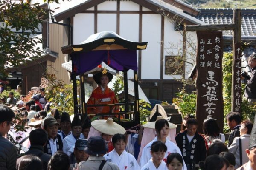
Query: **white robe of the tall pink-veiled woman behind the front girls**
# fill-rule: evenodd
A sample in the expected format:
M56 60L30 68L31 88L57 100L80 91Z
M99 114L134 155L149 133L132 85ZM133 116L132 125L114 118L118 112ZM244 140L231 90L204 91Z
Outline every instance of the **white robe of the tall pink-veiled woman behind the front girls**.
M141 154L141 157L140 157L140 167L143 167L145 164L147 164L147 162L151 159L151 145L153 144L153 142L157 141L157 137L155 137L151 142L149 142L144 148L143 148L143 151L142 151L142 154ZM180 152L180 148L177 147L176 144L174 144L173 142L171 142L169 139L166 138L166 142L165 142L165 145L167 147L167 151L165 153L165 156L164 156L164 161L166 161L167 159L167 156L170 154L170 153L179 153L181 155L181 152ZM183 168L182 170L186 170L186 163L185 161L183 160Z

